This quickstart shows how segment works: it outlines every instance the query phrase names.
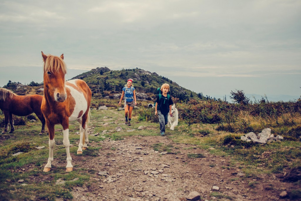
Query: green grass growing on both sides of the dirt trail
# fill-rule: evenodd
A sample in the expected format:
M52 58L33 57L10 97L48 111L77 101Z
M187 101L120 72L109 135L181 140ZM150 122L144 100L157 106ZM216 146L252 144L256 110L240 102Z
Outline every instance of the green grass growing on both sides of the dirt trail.
M94 100L95 101L95 100ZM109 104L115 104L114 100L106 100ZM98 103L97 103L98 104ZM142 107L141 107L142 108ZM143 108L141 109L143 110ZM148 114L147 115L151 115ZM145 115L145 117L147 117ZM108 117L108 118L104 118ZM99 133L98 136L89 136L89 143L93 146L88 146L82 156L96 157L102 149L101 142L103 140L121 140L130 136L158 136L159 124L150 121L139 119L139 114L134 110L132 116L131 127L122 124L124 122L124 111L117 111L112 108L109 111L91 111L91 124L89 127L94 127L94 133ZM106 121L109 119L109 121ZM106 124L108 123L108 124ZM105 126L103 124L106 124ZM117 125L118 124L118 125ZM138 130L139 126L148 127L148 129ZM117 132L116 127L120 126L123 131ZM259 177L260 174L275 174L288 172L290 168L298 168L301 166L301 142L300 141L281 141L268 143L265 145L245 143L239 140L242 134L229 133L225 131L217 131L217 124L191 124L188 126L184 121L179 121L179 125L174 131L166 130L166 137L174 143L187 144L189 150L205 149L212 155L223 156L229 160L229 165L222 166L222 169L237 168L243 171L246 176ZM127 130L135 129L127 132ZM41 130L41 122L27 121L24 126L15 126L14 133L2 134L0 146L0 198L1 200L61 200L72 199L72 191L76 186L91 185L90 178L96 174L95 170L85 169L78 164L73 164L74 171L65 172L66 150L63 145L63 133L61 125L55 126L55 142L54 157L60 165L55 166L50 172L43 172L48 159L48 135L39 135ZM107 133L102 134L103 130ZM70 122L69 127L70 152L76 154L79 143L78 122ZM105 136L102 138L100 136ZM36 149L36 146L45 146L44 149ZM110 149L115 150L115 147ZM169 154L177 154L178 148L173 145L163 142L155 143L153 149L158 152L167 152ZM24 153L12 156L12 154L22 151ZM188 158L202 158L204 155L189 153ZM62 165L64 164L64 165ZM101 164L101 163L100 163ZM215 164L210 164L210 167L215 167ZM30 170L27 170L28 168ZM27 171L21 171L23 169ZM17 171L13 171L17 170ZM20 171L19 171L20 170ZM43 178L39 182L33 183L32 178ZM57 179L66 181L64 185L54 185ZM72 181L74 178L79 178L77 181ZM26 186L21 186L17 181L24 179ZM240 180L234 178L232 181ZM52 188L49 188L49 185ZM256 188L257 183L250 181L248 187ZM35 193L32 193L35 192ZM225 196L221 193L212 193L218 199L233 198ZM289 194L290 199L295 199L300 196L300 191L292 191Z

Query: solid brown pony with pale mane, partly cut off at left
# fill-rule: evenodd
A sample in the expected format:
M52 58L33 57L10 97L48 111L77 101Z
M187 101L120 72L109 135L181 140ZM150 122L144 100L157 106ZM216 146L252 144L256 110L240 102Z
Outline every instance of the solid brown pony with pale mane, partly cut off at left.
M5 117L5 128L2 133L7 132L8 119L11 123L11 130L9 132L14 132L13 115L27 116L34 112L42 122L42 130L39 133L42 135L45 128L45 119L41 111L42 99L43 96L38 94L18 96L11 90L0 88L0 109L3 111Z

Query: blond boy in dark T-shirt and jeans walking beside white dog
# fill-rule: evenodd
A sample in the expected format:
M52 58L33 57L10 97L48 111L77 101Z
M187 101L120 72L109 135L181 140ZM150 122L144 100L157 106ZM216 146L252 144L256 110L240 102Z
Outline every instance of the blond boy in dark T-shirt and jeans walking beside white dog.
M161 86L162 94L159 94L156 100L155 115L159 117L160 134L165 135L165 125L168 122L167 115L171 115L171 106L173 105L169 92L169 84L165 83Z

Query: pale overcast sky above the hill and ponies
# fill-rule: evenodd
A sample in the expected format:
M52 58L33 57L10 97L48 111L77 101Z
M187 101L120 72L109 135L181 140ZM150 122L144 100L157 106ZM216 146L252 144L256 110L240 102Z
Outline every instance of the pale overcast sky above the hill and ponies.
M209 96L301 94L300 0L9 0L0 33L0 86L42 82L43 51L74 76L138 67Z

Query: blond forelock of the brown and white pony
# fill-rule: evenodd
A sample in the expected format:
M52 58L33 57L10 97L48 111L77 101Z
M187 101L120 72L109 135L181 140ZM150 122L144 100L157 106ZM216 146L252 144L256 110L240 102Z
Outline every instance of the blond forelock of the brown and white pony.
M44 64L44 72L58 72L62 70L64 74L67 73L67 67L64 60L61 57L48 55Z

